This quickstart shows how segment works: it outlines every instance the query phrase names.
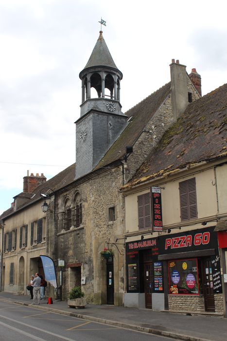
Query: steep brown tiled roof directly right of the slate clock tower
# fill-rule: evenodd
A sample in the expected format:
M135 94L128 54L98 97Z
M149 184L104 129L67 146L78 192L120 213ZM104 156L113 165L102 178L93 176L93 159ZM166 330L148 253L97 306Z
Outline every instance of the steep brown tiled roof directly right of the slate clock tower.
M106 152L105 156L96 166L96 169L119 160L124 156L125 147L134 144L146 124L170 93L170 87L171 83L169 82L125 113L129 117L126 128L108 152Z

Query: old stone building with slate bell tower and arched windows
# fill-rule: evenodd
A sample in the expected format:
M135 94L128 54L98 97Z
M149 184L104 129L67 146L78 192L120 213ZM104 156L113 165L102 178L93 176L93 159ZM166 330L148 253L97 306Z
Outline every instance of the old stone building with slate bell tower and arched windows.
M176 70L171 73L175 84L177 79L185 79L183 105L187 107L200 97L198 90L185 66L173 60L171 68ZM45 185L53 190L46 213L46 254L54 260L63 298L67 298L72 287L82 285L88 302L122 305L126 290L125 206L119 190L175 122L174 101L175 107L180 104L181 109L182 103L175 100L179 87L173 88L171 79L122 113L122 73L102 33L80 77L82 104L81 117L76 122L76 164ZM97 98L91 98L92 85ZM127 146L133 148L130 154L126 153ZM42 187L41 184L33 192L38 194ZM31 196L23 210L34 200ZM1 219L4 221L7 216L4 212ZM105 247L114 251L114 257L103 259L100 251ZM58 267L58 260L65 261L64 268Z

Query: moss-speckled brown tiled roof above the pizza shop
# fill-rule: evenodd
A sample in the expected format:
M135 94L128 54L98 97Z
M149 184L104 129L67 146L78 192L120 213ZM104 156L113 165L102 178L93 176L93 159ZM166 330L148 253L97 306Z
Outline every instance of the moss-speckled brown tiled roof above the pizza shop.
M227 154L227 84L190 103L162 136L131 185Z

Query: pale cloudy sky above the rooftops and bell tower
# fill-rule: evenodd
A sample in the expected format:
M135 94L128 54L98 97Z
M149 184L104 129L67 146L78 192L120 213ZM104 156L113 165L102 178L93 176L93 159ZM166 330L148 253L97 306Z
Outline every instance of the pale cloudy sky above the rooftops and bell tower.
M122 112L196 68L202 95L227 82L225 0L0 0L0 214L33 172L75 162L81 80L103 36L123 73Z

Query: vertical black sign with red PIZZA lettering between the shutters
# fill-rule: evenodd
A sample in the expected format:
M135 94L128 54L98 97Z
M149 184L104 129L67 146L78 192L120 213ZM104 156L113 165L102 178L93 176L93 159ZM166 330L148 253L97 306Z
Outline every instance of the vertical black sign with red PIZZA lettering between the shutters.
M152 226L153 231L162 231L161 188L151 188Z

